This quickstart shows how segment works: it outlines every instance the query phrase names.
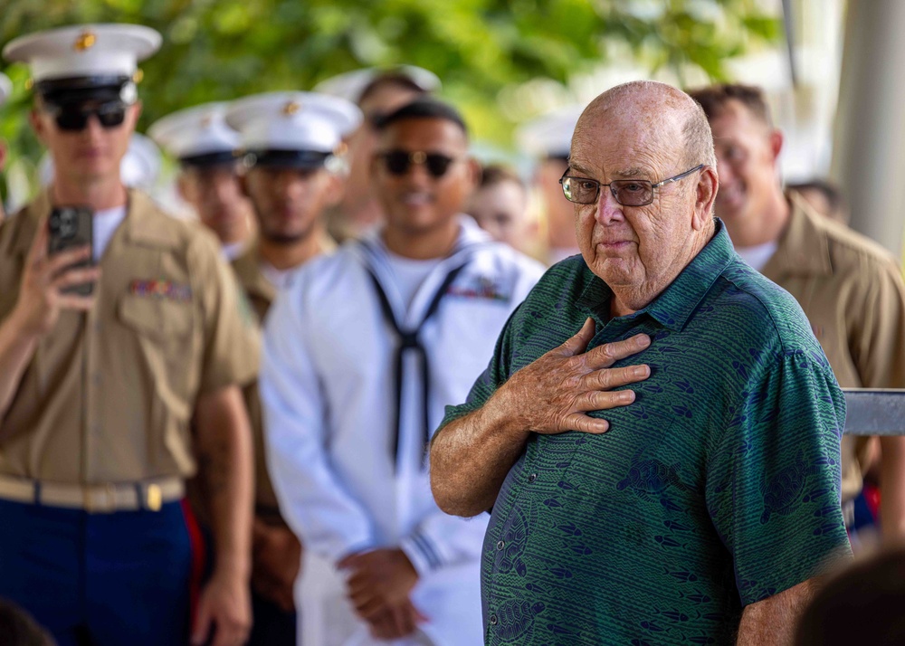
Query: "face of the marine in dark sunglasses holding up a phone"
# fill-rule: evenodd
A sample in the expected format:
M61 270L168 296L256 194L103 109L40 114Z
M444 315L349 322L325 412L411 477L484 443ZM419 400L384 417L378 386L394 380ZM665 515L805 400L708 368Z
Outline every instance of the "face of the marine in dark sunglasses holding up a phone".
M86 112L98 108L90 101ZM78 184L94 183L100 179L119 177L119 162L129 149L129 138L135 131L140 104L125 106L122 123L105 127L97 115L91 114L84 128L63 129L51 110L41 104L32 112L32 127L53 157L57 177Z

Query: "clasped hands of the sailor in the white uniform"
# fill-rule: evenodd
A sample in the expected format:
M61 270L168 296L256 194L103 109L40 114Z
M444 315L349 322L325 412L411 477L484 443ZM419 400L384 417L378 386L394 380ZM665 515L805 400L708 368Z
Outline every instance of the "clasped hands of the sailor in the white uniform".
M409 603L408 595L418 583L414 565L398 548L354 554L338 565L351 570L346 584L349 601L357 615L369 623Z

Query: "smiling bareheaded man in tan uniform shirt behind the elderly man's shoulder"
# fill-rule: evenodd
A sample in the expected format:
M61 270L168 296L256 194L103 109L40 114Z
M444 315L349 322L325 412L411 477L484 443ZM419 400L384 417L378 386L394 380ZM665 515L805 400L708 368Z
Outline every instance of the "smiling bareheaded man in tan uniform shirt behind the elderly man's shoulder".
M879 244L828 221L777 174L782 134L757 88L692 91L710 120L719 163L715 211L736 251L788 290L843 387L905 387L905 286ZM862 489L866 438L843 437L843 510ZM905 537L905 437L880 440L881 529ZM859 459L861 458L861 459Z

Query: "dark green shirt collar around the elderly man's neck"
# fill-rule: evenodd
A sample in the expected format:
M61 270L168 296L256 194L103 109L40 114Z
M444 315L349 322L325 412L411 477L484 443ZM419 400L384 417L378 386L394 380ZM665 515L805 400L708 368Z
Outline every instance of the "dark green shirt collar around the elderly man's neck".
M726 225L716 219L716 233L676 279L646 308L624 318L639 318L646 314L665 328L681 330L700 301L707 296L710 286L729 262L737 257L732 249L732 242L729 241L729 234L726 233ZM610 318L609 302L613 298L613 291L590 269L585 267L585 271L592 278L578 298L577 305L597 315L598 322L605 323Z

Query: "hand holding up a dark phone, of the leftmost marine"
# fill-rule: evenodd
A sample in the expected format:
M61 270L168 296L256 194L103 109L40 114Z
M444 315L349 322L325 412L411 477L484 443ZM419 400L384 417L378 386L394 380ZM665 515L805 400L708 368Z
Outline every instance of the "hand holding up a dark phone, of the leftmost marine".
M61 290L100 278L97 267L66 269L75 262L90 258L90 247L67 249L49 256L48 236L45 217L38 224L38 231L25 259L19 299L13 312L25 333L39 337L53 328L60 318L60 310L85 311L94 302L93 295L63 294Z

